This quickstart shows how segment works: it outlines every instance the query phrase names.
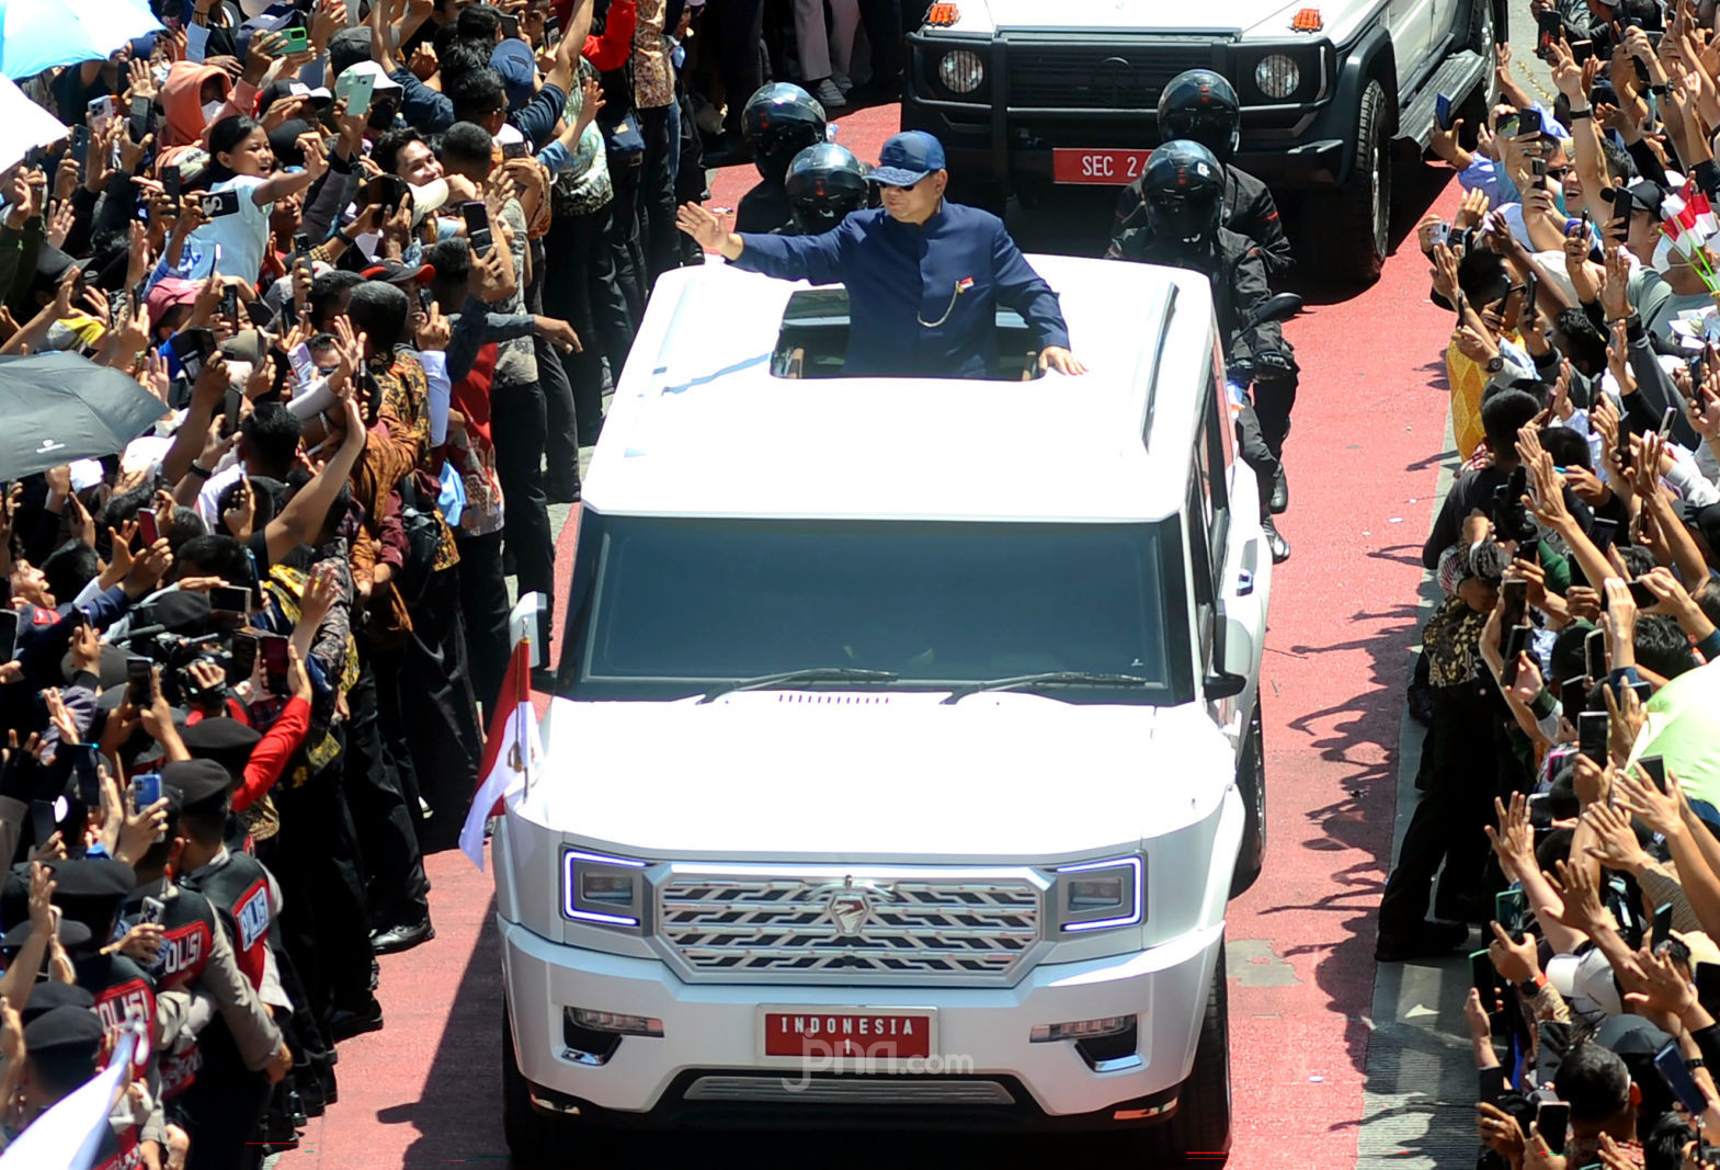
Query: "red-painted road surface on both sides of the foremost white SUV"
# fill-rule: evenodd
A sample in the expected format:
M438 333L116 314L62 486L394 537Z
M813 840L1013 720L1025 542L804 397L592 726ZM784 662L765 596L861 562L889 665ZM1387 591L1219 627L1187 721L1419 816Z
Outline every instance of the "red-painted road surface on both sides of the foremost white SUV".
M839 124L838 141L872 160L896 126L894 107ZM722 172L712 203L733 208L753 179L752 169ZM1438 205L1448 212L1452 191ZM1417 640L1419 551L1447 410L1440 354L1450 318L1428 306L1426 287L1410 241L1373 289L1311 308L1287 330L1302 396L1283 521L1295 556L1278 568L1262 680L1269 855L1230 919L1230 1165L1242 1170L1355 1161L1373 908L1391 841L1405 650ZM566 580L573 525L559 552ZM490 878L458 852L432 857L428 871L437 938L382 960L387 1027L341 1044L341 1101L311 1122L286 1170L507 1160ZM623 1149L631 1165L657 1165L636 1144ZM710 1146L697 1149L709 1160ZM905 1148L886 1139L881 1149L901 1161ZM1070 1153L1066 1142L1058 1149ZM571 1144L569 1163L581 1153ZM1018 1156L1004 1148L998 1165Z

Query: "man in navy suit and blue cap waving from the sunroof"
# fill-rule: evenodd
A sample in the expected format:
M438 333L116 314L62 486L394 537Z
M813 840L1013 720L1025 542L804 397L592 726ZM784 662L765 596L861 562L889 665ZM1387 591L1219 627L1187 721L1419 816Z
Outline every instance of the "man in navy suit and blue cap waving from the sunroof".
M999 303L1039 334L1041 370L1087 372L1070 353L1056 292L1003 220L944 200L943 143L903 131L884 143L869 179L882 188L884 206L855 212L822 236L734 234L697 203L681 205L676 224L738 268L846 286L846 377L991 377Z

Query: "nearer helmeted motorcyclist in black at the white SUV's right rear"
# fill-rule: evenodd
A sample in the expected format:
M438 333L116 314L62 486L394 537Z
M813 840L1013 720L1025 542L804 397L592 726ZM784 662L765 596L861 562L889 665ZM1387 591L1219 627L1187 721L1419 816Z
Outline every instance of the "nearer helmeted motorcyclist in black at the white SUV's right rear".
M1170 141L1152 151L1142 172L1146 222L1130 227L1113 241L1118 260L1192 268L1213 282L1218 329L1225 336L1225 365L1232 384L1259 385L1262 372L1280 373L1288 366L1283 336L1276 322L1244 327L1250 313L1271 296L1261 248L1219 224L1225 177L1219 162L1206 146ZM1254 468L1261 485L1261 525L1271 545L1273 561L1290 556L1290 542L1280 535L1271 514L1271 492L1278 458L1261 435L1256 408L1247 401L1237 416L1238 449Z

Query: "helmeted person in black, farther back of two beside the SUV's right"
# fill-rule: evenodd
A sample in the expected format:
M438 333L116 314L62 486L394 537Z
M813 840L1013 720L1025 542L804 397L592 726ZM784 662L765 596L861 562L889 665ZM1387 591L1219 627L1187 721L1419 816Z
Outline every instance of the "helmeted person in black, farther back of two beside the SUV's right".
M1252 239L1266 267L1266 279L1281 280L1290 272L1293 256L1283 220L1278 217L1278 205L1264 182L1232 162L1242 141L1242 103L1232 84L1211 69L1189 69L1171 77L1159 93L1159 139L1166 143L1187 139L1213 151L1225 174L1223 225ZM1116 255L1123 232L1146 225L1144 186L1146 174L1123 188L1116 200L1111 255ZM1290 434L1290 410L1295 406L1297 392L1297 365L1288 342L1281 353L1290 361L1288 373L1259 372L1262 377L1254 384L1261 434L1278 461L1269 501L1273 513L1290 506L1290 483L1283 475L1283 444Z

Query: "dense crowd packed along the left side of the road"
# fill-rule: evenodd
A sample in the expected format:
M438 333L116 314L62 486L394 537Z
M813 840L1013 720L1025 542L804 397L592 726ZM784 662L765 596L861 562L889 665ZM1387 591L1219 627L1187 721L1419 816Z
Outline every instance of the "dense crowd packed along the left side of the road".
M256 1165L335 1099L375 955L433 936L507 578L554 604L549 504L702 262L676 206L748 160L783 232L863 206L826 108L925 7L150 0L10 79L65 132L0 160L0 360L148 422L7 408L0 1148L127 1036L96 1165Z

